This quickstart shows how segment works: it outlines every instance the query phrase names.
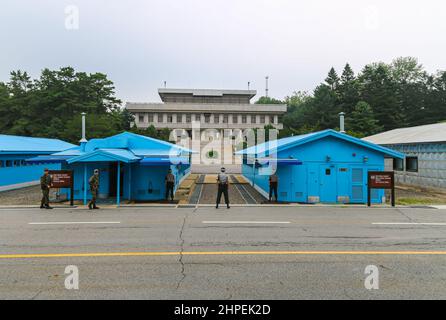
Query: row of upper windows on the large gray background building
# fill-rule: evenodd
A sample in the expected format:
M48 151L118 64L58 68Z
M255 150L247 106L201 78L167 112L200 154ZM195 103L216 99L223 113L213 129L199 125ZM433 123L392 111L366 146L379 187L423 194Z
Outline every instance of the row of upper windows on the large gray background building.
M204 123L234 123L234 124L278 124L277 115L247 115L247 114L194 114L194 113L139 113L136 117L138 123L191 123L204 121Z

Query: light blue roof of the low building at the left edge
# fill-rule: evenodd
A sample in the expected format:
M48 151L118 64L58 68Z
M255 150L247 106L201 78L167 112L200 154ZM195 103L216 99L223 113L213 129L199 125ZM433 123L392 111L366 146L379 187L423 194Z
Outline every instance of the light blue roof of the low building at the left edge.
M74 144L59 139L0 134L0 153L53 153L73 147Z

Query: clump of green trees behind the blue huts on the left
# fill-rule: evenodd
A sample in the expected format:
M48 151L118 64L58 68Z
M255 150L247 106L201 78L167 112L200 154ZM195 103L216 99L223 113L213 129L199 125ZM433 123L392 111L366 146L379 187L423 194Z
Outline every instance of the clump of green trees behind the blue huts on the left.
M77 143L82 112L87 113L89 138L128 130L133 116L120 108L114 89L105 74L71 67L44 69L35 80L21 70L12 71L9 82L0 83L0 132Z

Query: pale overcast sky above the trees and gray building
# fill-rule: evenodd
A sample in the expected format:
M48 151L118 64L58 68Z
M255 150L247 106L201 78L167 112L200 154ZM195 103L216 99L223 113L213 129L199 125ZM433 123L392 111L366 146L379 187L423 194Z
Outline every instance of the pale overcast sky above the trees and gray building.
M443 0L2 0L0 81L72 66L107 74L118 98L157 88L312 92L333 66L400 56L446 69Z

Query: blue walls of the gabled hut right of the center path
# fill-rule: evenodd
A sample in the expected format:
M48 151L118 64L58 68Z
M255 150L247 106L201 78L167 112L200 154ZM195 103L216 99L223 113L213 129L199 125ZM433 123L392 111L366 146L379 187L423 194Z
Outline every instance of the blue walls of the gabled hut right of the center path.
M303 162L278 166L279 201L307 203L311 197L319 197L320 202L342 202L338 197L348 197L350 203L365 203L367 172L384 170L382 153L335 137L281 151L277 157ZM242 173L265 193L269 192L270 170L256 169L254 173L252 165L243 165ZM383 190L372 190L372 202L380 203L383 195Z

